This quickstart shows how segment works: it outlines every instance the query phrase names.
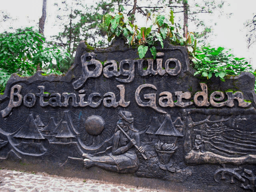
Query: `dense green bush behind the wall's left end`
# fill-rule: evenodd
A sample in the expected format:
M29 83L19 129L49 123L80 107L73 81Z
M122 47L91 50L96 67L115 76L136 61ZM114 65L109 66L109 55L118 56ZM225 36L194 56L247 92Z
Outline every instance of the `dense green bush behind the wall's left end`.
M44 42L44 36L32 27L0 34L1 92L12 73L31 76L39 66L46 74L62 74L60 67L70 60L69 54Z

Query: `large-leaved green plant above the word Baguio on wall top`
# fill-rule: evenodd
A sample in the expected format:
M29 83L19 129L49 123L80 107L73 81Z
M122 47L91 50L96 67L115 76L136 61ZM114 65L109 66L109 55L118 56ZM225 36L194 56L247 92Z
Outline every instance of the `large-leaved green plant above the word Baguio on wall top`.
M130 46L138 47L140 58L144 58L146 52L150 50L152 56L156 58L156 44L160 42L164 48L164 40L168 40L173 45L191 47L196 45L194 34L188 33L187 38L183 38L180 28L174 23L173 12L169 16L157 15L153 25L139 28L132 24L125 14L118 13L104 15L103 26L107 30L108 41L114 37L124 38Z

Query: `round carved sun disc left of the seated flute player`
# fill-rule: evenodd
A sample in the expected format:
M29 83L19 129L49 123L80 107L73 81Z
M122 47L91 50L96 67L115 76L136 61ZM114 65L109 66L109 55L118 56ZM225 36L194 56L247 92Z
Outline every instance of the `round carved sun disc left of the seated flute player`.
M92 115L85 121L85 130L90 135L97 136L104 130L105 121L101 116Z

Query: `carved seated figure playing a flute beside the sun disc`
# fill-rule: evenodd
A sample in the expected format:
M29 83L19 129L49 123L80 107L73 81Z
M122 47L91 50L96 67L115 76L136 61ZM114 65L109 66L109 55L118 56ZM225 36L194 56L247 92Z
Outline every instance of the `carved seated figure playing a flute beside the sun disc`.
M134 128L134 118L132 114L128 111L120 111L118 113L117 125L119 125L132 140L129 140L122 131L116 128L112 142L112 152L106 156L83 154L84 166L86 168L97 166L105 170L120 173L134 173L138 170L138 157L133 146L140 146L140 136L138 130ZM139 147L138 150L144 153L143 147Z

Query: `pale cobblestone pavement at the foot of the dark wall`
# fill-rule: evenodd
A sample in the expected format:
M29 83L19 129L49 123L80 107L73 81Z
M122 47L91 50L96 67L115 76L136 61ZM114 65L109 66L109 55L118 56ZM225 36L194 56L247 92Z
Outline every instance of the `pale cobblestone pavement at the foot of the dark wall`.
M0 170L0 192L160 192L96 180Z

